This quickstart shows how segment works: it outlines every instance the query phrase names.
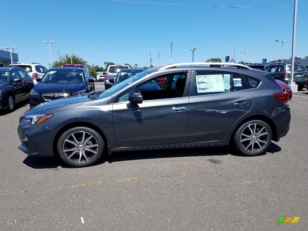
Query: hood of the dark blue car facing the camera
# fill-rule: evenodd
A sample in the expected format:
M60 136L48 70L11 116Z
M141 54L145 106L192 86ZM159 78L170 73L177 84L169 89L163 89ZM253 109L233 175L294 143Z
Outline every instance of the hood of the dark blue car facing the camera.
M63 94L72 95L76 91L86 89L85 83L42 83L39 82L33 88L40 95L43 94Z

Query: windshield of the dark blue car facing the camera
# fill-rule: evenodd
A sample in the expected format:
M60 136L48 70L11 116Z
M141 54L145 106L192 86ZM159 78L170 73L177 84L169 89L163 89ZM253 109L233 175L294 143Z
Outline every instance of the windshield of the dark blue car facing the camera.
M62 68L61 68L62 69ZM50 70L48 71L41 82L43 83L83 83L85 76L83 71L80 69L68 69L63 68L62 70Z

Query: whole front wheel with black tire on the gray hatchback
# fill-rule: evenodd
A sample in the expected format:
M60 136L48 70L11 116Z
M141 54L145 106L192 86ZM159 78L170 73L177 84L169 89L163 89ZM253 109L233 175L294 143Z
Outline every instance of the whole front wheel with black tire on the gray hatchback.
M87 167L103 155L103 138L91 128L77 127L64 132L57 144L59 156L72 167Z

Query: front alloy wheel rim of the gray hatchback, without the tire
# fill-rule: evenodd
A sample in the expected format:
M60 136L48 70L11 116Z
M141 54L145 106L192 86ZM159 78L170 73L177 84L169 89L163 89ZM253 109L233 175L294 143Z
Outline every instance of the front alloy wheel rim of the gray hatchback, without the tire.
M85 131L71 133L63 143L66 158L76 164L84 164L92 160L98 149L98 141L91 133Z

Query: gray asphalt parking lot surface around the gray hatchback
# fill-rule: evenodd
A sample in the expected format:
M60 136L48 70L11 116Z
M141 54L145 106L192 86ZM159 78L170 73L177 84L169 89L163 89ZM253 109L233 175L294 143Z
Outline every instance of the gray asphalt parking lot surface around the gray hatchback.
M0 111L0 230L308 230L308 91L289 102L290 131L262 156L152 150L86 168L19 151L18 119L29 104Z

